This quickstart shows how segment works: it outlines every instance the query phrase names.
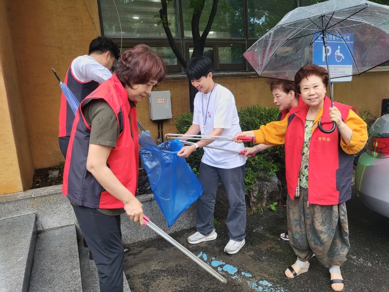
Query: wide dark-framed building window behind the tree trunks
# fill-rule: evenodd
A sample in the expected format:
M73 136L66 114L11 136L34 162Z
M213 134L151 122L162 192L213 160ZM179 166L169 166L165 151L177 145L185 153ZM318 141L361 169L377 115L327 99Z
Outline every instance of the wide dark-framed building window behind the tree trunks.
M122 51L136 44L147 44L162 58L169 73L184 71L162 25L158 24L160 0L99 0L98 3L103 36L112 38L118 45L122 43ZM207 25L212 3L205 0L199 21L200 34ZM296 0L219 0L203 55L212 59L216 71L252 70L243 53L297 4ZM194 46L192 14L188 0L168 3L169 28L186 61L191 58Z

